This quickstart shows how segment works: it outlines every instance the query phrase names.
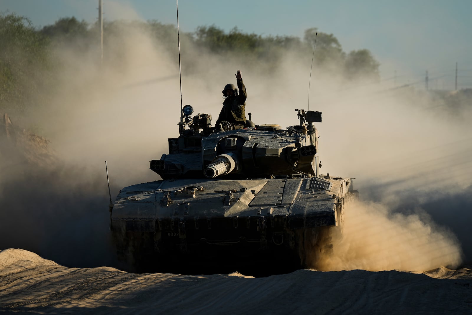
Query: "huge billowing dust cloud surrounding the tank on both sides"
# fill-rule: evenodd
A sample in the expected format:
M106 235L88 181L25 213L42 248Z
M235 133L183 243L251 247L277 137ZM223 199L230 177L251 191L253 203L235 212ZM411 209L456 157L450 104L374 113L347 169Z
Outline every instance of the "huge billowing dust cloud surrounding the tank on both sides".
M268 73L253 61L189 43L181 50L189 58L183 60L189 69L182 77L183 103L211 114L213 122L222 87L235 82L237 69L247 88L246 112L256 124L295 125L295 108L323 112L317 125L321 171L357 178L364 201L346 211L338 254L318 268L429 270L460 263L458 244L465 241L461 236L457 242L454 233L464 233L453 221L430 220L447 209L422 215L428 207L420 211L402 202L408 194L422 196L420 204L454 199L471 185L470 109L453 115L408 87L348 83L336 68L313 69L308 100L311 56L289 53ZM177 136L177 47L166 51L146 30L130 26L107 38L103 63L93 49L79 54L59 45L54 54L63 65L61 84L46 91L48 106L23 121L41 126L63 162L45 170L20 166L0 180L6 227L0 248L21 247L70 266L114 264L104 161L113 199L122 187L160 179L148 163L167 153L167 138ZM464 207L455 209L456 217L461 214L470 218ZM470 251L464 253L470 260Z

